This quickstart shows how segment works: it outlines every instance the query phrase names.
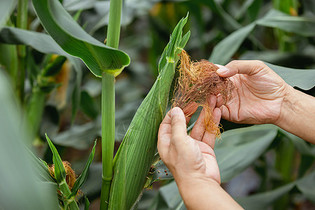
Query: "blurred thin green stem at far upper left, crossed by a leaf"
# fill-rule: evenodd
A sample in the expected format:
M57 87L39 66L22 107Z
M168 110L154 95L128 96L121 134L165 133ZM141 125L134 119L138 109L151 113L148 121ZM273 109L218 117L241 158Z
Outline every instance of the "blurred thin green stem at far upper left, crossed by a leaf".
M18 28L21 28L21 29L27 28L27 9L28 9L28 0L19 0L18 9L17 9L17 22L16 22L16 25ZM18 45L17 51L18 51L18 73L16 77L16 84L17 84L16 89L17 89L18 97L20 98L20 101L23 104L26 47L24 45Z

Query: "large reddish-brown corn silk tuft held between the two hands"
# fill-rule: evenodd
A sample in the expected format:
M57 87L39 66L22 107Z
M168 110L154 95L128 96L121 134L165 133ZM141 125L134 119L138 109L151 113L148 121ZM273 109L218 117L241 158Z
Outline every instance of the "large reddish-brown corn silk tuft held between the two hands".
M210 95L222 95L224 103L229 99L233 83L220 77L218 67L207 60L192 62L186 51L180 54L179 77L174 91L173 107L180 107L186 117L191 116L192 106L202 106L205 111L205 126L208 132L220 135L214 123L212 110L207 103Z

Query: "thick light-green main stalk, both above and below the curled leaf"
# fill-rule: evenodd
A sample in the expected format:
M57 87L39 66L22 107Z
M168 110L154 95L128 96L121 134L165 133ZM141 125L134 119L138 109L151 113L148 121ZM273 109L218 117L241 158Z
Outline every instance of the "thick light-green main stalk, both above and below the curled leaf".
M107 46L118 48L122 0L111 0L107 28ZM113 178L115 145L115 76L102 74L102 191L101 210L108 209L110 186Z

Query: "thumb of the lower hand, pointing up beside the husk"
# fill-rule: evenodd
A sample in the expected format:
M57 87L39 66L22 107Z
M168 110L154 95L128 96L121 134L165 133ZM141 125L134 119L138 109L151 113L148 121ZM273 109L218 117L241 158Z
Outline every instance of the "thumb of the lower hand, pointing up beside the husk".
M187 136L186 118L184 112L179 107L175 107L171 111L171 126L171 143L175 146L182 145L182 142L185 141Z

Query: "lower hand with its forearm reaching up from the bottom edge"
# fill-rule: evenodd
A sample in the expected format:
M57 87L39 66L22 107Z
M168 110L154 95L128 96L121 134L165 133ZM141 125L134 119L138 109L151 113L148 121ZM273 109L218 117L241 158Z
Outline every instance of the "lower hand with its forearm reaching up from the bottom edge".
M209 98L213 118L218 125L221 111L215 108L216 97ZM215 134L209 133L201 112L189 136L183 111L175 107L160 125L158 150L172 172L188 209L240 209L221 188L220 172L213 151Z

